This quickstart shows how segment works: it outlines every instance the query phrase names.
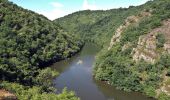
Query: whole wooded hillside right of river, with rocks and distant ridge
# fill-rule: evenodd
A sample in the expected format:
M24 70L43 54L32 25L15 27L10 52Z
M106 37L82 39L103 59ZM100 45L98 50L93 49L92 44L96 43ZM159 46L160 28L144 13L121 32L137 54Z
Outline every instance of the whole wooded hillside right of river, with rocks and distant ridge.
M169 100L169 19L170 1L153 0L128 9L80 11L55 23L103 46L94 67L97 80Z

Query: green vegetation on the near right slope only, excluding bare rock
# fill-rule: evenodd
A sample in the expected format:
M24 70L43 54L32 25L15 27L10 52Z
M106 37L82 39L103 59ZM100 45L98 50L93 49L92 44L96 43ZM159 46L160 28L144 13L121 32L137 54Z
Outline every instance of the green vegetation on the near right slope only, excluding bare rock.
M122 34L120 42L110 51L103 49L97 57L94 68L96 79L106 81L118 89L125 91L139 91L150 97L156 97L156 90L160 88L163 70L170 69L169 55L165 54L155 62L149 64L144 61L135 62L132 59L132 48L137 46L139 36L149 33L161 26L161 22L170 18L169 0L154 0L143 5L152 9L152 16L142 19L138 25L131 25ZM164 12L164 13L163 13ZM157 33L155 33L157 34ZM163 47L165 37L157 35L157 47ZM130 43L131 47L122 51L122 46ZM160 94L158 99L168 100L169 96Z

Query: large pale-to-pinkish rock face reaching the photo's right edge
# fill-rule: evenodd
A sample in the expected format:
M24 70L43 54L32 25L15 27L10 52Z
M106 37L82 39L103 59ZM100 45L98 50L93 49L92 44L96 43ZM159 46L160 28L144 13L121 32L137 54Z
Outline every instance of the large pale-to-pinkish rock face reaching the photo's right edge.
M133 49L133 60L143 59L146 62L154 63L163 52L157 52L156 35L161 33L165 36L166 42L163 51L170 53L170 19L163 22L159 28L152 30L149 34L140 36L137 48Z

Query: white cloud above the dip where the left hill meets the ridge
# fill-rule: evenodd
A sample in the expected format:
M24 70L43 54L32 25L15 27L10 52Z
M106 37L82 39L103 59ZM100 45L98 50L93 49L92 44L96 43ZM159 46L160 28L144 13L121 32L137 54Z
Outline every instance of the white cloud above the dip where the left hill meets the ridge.
M39 14L46 16L50 20L54 20L59 17L63 17L64 15L67 14L67 12L62 9L62 7L64 7L63 4L61 4L59 2L51 2L51 3L49 3L49 5L52 6L52 8L53 8L52 10L49 10L49 11L38 10L37 12Z

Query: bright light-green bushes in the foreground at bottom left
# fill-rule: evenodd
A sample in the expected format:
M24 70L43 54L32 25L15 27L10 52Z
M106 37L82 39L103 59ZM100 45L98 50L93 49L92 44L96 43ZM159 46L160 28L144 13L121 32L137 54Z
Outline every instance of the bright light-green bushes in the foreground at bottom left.
M3 88L15 93L19 100L79 100L75 97L74 92L68 92L67 89L63 89L62 93L46 93L41 87L33 86L26 87L17 83L3 82L1 84Z

